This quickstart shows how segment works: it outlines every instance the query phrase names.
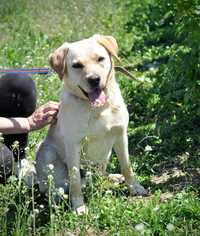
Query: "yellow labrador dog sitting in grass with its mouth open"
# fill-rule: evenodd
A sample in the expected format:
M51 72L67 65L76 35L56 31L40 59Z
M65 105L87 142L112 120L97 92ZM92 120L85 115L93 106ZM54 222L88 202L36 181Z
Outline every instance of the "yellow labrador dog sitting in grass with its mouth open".
M39 187L47 192L48 165L53 164L55 185L66 189L70 184L72 207L78 214L87 211L81 192L82 148L85 158L103 172L114 148L131 194L146 194L129 162L129 116L113 66L117 51L113 37L94 35L64 43L49 57L64 86L57 123L50 127L37 154Z

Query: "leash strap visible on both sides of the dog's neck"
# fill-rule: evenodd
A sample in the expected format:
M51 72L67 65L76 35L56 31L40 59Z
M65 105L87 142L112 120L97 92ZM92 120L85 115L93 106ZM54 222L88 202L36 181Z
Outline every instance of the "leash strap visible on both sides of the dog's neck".
M136 78L132 73L130 73L127 69L122 66L114 66L115 70L118 72L123 73L124 75L128 76L130 79L135 80L137 82L143 83L144 81ZM37 67L37 68L16 68L16 69L0 69L1 74L39 74L39 75L47 75L50 76L55 74L56 72L48 67Z

